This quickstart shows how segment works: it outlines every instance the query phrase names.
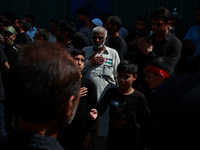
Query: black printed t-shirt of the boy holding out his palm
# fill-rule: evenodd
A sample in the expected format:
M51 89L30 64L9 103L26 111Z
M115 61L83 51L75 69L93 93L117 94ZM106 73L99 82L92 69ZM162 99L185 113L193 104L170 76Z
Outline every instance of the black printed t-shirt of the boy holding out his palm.
M97 105L100 116L108 105L108 145L115 150L144 149L150 115L144 95L137 90L122 95L119 88L110 88Z

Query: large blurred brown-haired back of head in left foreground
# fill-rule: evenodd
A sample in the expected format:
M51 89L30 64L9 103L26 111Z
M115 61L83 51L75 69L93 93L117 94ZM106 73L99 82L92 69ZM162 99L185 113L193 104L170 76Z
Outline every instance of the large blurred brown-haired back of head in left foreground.
M20 49L11 81L17 115L29 122L46 123L70 96L78 96L80 73L64 46L35 41Z

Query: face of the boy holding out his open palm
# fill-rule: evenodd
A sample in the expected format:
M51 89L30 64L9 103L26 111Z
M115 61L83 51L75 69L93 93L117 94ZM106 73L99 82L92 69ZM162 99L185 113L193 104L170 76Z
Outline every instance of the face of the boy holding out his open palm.
M132 87L133 82L137 79L137 75L127 72L118 72L117 81L121 89Z

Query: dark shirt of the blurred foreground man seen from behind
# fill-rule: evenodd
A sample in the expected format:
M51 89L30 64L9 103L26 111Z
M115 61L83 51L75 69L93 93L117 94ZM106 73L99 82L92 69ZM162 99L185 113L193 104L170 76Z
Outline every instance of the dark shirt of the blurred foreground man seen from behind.
M1 150L64 150L50 136L32 134L14 127L7 137L0 139Z

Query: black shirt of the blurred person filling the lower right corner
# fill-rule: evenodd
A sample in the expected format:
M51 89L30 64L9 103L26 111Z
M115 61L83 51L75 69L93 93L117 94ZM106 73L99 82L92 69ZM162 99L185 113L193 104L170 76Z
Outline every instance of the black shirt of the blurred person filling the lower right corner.
M154 93L149 150L199 149L200 72L165 79Z

